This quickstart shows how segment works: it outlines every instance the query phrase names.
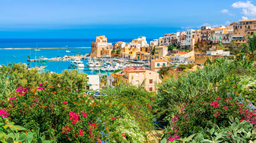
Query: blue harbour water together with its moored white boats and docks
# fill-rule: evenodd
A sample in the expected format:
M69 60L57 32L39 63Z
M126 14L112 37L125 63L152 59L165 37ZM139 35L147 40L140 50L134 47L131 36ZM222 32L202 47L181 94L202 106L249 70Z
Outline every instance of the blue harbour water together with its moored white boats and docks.
M119 41L123 39L117 40ZM130 41L131 39L124 40ZM90 45L91 39L83 39L81 41L70 39L71 42L67 43L62 41L56 42L55 40L51 41L48 39L31 39L26 43L19 41L19 39L15 39L15 42L0 42L0 48L2 48L2 50L0 49L0 51L2 51L0 52L0 64L8 65L9 63L25 63L28 65L28 69L36 69L36 67L45 66L44 68L37 68L37 70L40 72L49 71L55 73L61 73L65 69L76 69L79 73L86 73L89 75L98 74L100 76L112 74L116 69L122 70L125 67L144 66L143 62L129 61L128 59L114 58L104 55L101 58L90 57L91 49L85 47L88 47L86 45ZM11 44L13 44L12 47L6 46ZM66 45L68 45L68 47L64 47ZM84 45L84 47L82 47L82 45ZM79 46L81 48L71 48ZM75 58L79 58L84 66L73 66L71 61ZM120 67L120 64L123 67Z

